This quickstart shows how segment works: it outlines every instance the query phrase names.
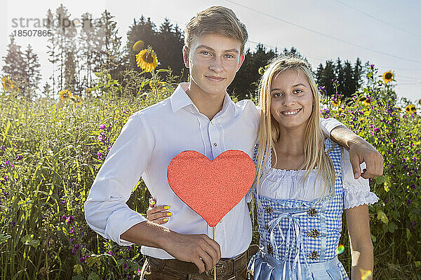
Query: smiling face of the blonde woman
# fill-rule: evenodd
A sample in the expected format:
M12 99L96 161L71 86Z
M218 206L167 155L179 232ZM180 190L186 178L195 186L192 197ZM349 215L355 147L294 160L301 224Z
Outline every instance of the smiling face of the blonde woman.
M272 78L271 113L280 127L307 125L313 110L313 94L307 76L299 69L288 69Z

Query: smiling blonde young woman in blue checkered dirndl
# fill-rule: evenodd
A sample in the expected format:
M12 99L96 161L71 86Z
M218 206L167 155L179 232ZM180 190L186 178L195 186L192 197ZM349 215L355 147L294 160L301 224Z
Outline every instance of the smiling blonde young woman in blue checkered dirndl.
M248 265L254 279L348 279L336 252L343 209L352 279L372 274L368 204L378 198L368 180L354 179L349 153L323 137L309 64L297 57L273 59L260 83L260 108L253 157L260 251ZM147 218L166 223L166 213L163 206L149 208Z

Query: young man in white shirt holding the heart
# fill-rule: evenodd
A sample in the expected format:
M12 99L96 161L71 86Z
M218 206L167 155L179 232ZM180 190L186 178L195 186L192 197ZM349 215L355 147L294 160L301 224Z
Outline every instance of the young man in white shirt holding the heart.
M226 90L244 60L246 27L224 7L198 13L185 29L183 55L190 83L181 83L168 99L134 113L121 130L98 172L85 203L88 225L121 245L140 244L147 255L145 279L246 279L252 228L243 198L215 228L189 209L171 190L166 170L171 159L194 150L213 160L235 149L252 156L259 113L253 102L234 104ZM326 134L337 120L323 120ZM347 146L354 171L366 161L363 176L382 174L382 158L370 144L345 127L331 133ZM126 202L142 176L159 204L174 216L166 227L147 221ZM222 259L220 260L220 258Z

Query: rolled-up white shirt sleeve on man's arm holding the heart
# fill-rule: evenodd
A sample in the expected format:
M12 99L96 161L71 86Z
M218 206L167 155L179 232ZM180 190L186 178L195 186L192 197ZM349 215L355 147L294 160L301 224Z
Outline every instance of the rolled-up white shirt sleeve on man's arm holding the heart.
M131 116L123 126L102 164L85 202L88 225L120 245L131 242L120 235L133 225L147 221L126 202L147 167L154 141L142 113Z

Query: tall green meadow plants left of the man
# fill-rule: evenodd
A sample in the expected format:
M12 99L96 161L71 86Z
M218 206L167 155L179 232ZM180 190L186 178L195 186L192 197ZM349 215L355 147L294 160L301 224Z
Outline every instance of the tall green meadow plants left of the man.
M168 72L166 80L143 76L140 97L124 94L106 71L81 102L0 94L0 279L137 276L140 246L102 239L88 228L83 203L128 117L173 91ZM128 205L145 213L148 198L139 181Z

